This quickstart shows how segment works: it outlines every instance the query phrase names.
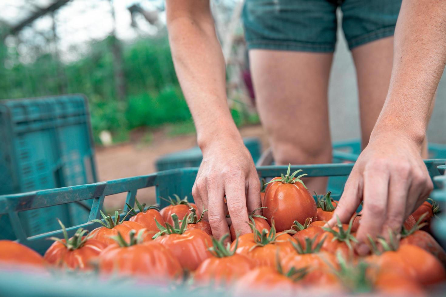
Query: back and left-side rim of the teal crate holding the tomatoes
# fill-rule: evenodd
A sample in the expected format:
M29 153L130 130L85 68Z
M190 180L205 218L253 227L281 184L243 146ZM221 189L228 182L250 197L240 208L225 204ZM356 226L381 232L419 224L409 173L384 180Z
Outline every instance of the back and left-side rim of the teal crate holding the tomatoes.
M437 167L444 165L445 159L425 160L425 164L432 178L440 175ZM353 167L352 163L346 164L316 164L292 166L292 170L302 169L303 172L311 177L318 176L348 176ZM287 166L263 166L257 167L259 177L271 178L280 176L286 172ZM104 199L107 196L127 192L126 203L133 205L135 196L139 189L146 187L156 187L157 202L161 207L166 206L166 202L159 197L168 197L178 194L180 197L188 196L193 202L191 195L192 186L197 175L198 168L173 169L161 171L150 175L135 176L126 179L116 179L107 182L99 182L87 185L64 187L59 189L33 191L23 194L0 196L0 213L8 215L14 234L17 240L37 252L44 253L50 246L51 241L46 240L50 236L62 237L62 231L57 230L47 232L36 236L27 236L19 213L30 209L41 209L42 207L53 207L76 201L85 201L93 199L88 222L84 224L68 225L69 236L72 236L79 227L87 230L93 230L100 226L98 223L92 223L91 220L99 218L99 210L102 208ZM437 187L437 184L436 184ZM342 191L334 192L332 197L339 198ZM109 199L112 199L111 197Z

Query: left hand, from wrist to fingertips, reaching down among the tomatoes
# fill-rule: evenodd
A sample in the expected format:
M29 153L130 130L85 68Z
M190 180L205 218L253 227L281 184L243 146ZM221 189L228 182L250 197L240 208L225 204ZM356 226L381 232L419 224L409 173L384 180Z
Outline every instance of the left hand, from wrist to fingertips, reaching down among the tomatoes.
M229 233L223 199L226 195L235 232L250 233L248 212L261 203L260 180L248 149L241 138L220 138L202 147L202 153L203 161L192 188L198 212L208 210L204 218L207 216L215 238L221 238Z

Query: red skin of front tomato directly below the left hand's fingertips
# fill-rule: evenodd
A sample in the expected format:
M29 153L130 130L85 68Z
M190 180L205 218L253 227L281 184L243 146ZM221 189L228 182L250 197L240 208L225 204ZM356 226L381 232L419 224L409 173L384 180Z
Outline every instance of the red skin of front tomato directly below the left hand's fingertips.
M198 266L194 280L202 285L230 285L255 266L254 261L244 255L234 254L222 258L212 256Z

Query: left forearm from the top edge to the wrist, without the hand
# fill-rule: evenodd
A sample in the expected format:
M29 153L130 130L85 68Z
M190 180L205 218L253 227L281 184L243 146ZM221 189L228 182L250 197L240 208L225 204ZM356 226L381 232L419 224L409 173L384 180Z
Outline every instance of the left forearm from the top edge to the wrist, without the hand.
M206 2L195 3L201 12L175 14L171 10L169 15L169 5L175 1L167 1L173 62L202 149L215 138L241 141L227 105L223 54Z

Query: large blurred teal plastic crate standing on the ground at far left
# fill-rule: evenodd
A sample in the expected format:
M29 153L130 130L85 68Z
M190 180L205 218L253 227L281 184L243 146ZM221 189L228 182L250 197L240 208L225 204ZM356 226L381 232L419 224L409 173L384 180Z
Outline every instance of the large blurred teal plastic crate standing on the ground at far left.
M0 195L96 181L87 98L81 94L0 100ZM91 201L32 209L19 218L28 236L86 222ZM15 239L0 216L0 239Z

